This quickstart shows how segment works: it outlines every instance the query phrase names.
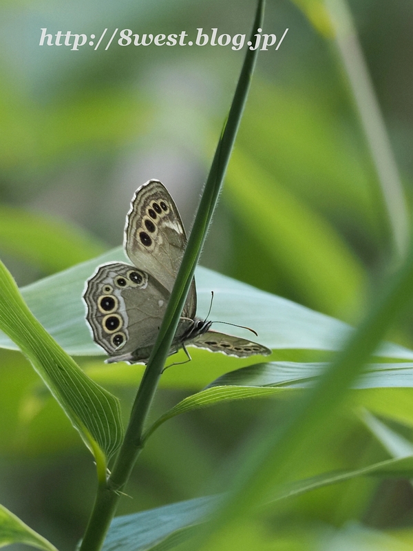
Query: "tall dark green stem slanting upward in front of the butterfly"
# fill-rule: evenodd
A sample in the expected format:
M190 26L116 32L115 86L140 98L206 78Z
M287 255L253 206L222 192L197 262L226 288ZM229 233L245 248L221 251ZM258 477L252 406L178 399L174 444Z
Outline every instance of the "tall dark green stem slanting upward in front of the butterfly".
M263 19L264 0L258 0L253 31L251 33L252 43L255 43L254 34L257 28L262 27ZM81 551L100 550L109 524L114 517L120 491L125 487L135 461L142 450L142 433L145 426L145 419L149 412L153 395L156 392L160 375L171 347L173 335L176 333L176 328L191 285L195 266L198 262L202 245L204 244L207 230L213 216L213 211L218 201L226 166L231 156L233 143L237 135L237 129L240 125L242 112L251 84L257 53L258 50L249 49L246 52L229 116L215 151L207 183L204 187L200 205L193 223L193 229L189 236L187 248L185 249L184 258L182 258L182 264L173 286L167 311L165 312L165 318L162 320L158 338L153 346L151 357L149 358L147 368L138 389L138 394L136 395L131 417L129 419L129 425L125 433L125 439L120 447L112 474L109 476L109 479L107 479L106 484L99 487L94 510L92 511L85 537L81 544Z

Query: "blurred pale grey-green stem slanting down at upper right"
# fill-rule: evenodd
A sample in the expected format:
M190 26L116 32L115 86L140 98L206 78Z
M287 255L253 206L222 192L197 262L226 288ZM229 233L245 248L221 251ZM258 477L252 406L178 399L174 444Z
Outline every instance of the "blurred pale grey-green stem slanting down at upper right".
M409 217L403 186L357 31L346 0L325 0L335 30L337 49L348 76L363 132L380 185L383 211L396 258L403 258L409 240Z

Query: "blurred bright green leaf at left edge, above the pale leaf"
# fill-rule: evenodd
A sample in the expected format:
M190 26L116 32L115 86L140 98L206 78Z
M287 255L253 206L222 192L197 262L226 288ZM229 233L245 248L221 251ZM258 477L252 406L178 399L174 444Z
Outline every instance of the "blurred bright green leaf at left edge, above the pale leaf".
M54 272L101 254L105 247L67 222L0 205L0 250Z

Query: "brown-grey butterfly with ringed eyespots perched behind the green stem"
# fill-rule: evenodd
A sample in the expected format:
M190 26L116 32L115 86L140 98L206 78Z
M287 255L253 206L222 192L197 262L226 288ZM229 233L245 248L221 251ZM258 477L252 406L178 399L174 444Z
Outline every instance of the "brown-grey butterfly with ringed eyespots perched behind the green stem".
M180 267L187 236L166 187L149 180L138 188L126 218L124 247L132 265L109 262L86 282L83 300L94 341L107 362L147 363ZM169 354L186 346L237 357L269 355L262 344L212 331L195 317L195 279ZM187 354L188 355L188 354Z

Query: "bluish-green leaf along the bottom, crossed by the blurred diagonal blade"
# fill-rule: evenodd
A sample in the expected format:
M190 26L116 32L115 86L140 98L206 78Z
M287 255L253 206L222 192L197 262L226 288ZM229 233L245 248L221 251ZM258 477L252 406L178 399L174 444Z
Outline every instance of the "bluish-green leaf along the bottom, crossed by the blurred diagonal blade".
M327 472L278 488L271 501L295 497L355 477L410 477L413 457L388 459L355 470ZM156 509L116 517L109 528L103 551L160 551L191 536L191 527L205 521L220 496L200 497ZM270 502L271 502L270 501Z

